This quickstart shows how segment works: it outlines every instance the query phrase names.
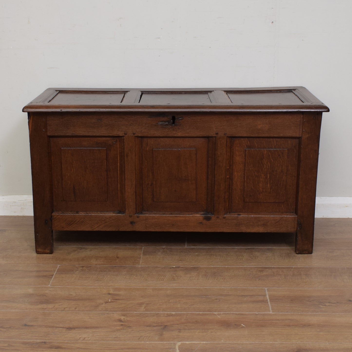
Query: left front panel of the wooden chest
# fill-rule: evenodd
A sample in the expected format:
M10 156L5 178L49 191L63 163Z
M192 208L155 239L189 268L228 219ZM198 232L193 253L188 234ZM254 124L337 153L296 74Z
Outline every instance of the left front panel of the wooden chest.
M120 138L51 138L55 211L123 211Z

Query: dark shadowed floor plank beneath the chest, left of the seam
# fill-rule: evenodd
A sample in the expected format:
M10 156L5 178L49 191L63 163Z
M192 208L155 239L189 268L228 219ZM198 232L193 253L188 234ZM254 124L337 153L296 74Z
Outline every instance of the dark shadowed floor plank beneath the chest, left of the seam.
M55 247L185 247L186 233L136 231L54 231L54 245Z

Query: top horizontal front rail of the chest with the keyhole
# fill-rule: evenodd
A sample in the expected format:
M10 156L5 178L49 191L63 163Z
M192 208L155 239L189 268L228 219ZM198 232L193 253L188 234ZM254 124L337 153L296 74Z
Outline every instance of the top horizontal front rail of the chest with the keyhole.
M302 113L48 113L49 136L300 137ZM172 122L175 116L175 124Z

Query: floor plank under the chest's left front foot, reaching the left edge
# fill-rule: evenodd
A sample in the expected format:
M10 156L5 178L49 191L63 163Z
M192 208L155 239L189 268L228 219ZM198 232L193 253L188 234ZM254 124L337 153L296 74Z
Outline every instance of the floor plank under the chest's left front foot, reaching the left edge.
M36 254L33 246L0 246L0 264L139 265L142 247L55 246L53 254Z

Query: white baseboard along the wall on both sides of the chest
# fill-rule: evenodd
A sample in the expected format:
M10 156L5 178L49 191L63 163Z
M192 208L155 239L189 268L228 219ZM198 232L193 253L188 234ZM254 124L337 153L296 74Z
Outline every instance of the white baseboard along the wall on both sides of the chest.
M0 196L0 215L33 215L33 197ZM315 217L352 218L352 197L316 197Z

